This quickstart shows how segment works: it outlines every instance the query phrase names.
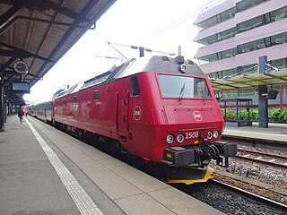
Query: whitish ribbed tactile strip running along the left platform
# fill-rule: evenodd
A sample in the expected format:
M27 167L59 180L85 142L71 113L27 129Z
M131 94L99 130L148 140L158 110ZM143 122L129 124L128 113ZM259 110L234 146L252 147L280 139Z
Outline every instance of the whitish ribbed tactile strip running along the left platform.
M48 146L47 142L39 135L33 125L30 124L27 118L25 118L27 124L30 127L32 133L34 133L39 145L42 147L46 153L48 160L55 168L57 175L61 178L65 189L68 191L72 197L75 205L83 215L102 215L103 213L97 207L95 202L91 200L88 193L85 192L83 187L77 182L72 173L65 167L60 159L58 159L57 154Z

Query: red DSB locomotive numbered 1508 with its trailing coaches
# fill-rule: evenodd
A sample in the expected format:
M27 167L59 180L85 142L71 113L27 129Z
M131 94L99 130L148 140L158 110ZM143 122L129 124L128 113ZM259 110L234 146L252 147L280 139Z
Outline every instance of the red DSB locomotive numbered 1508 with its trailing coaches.
M167 183L212 178L212 159L228 167L237 145L222 142L224 118L209 79L184 56L134 58L53 99L30 115L121 158L151 164Z

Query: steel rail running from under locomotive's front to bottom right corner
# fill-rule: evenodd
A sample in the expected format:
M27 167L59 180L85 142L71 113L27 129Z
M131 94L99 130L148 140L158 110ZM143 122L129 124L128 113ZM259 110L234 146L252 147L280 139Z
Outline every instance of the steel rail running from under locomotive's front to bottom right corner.
M255 202L259 202L263 205L267 205L267 206L273 208L274 210L283 211L283 213L287 211L287 205L283 204L281 202L275 202L275 201L267 199L263 196L257 195L256 193L251 193L251 192L242 190L238 187L235 187L233 185L228 185L228 184L222 183L222 182L214 180L214 179L210 179L210 181L214 185L219 185L222 188L229 190L232 193L237 193L240 196L243 196L243 197L248 198L250 200L253 200Z

